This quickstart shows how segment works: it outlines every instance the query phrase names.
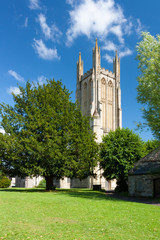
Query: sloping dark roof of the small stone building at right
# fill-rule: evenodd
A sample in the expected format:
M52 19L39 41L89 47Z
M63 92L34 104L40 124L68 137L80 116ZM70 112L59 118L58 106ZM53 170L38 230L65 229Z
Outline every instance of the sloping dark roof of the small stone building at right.
M129 175L160 174L160 147L135 163Z

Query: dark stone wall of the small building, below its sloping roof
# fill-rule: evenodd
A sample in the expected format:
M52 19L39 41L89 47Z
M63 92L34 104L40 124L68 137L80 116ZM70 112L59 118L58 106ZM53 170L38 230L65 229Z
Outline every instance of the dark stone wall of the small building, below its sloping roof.
M130 196L154 197L154 179L160 178L155 175L130 175L128 177L128 192Z

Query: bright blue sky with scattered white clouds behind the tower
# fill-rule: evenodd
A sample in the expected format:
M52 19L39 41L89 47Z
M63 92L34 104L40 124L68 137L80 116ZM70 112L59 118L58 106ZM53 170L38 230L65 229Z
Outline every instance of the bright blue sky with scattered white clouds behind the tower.
M27 80L61 79L75 101L79 52L84 72L92 68L95 39L102 67L113 70L115 50L121 58L123 127L142 121L136 101L136 44L140 32L159 33L159 0L1 0L0 102L13 104L11 92ZM144 140L152 139L143 131Z

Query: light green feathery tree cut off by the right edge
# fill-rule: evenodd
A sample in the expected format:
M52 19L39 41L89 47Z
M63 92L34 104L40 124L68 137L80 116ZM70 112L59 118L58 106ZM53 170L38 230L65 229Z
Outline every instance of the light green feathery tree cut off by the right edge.
M143 105L143 117L154 136L160 140L160 35L142 33L137 45L137 100Z

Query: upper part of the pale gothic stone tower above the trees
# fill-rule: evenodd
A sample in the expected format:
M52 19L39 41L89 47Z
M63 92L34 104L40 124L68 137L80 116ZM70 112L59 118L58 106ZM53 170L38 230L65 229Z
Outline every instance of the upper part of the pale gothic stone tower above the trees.
M93 48L93 67L83 74L81 53L77 62L76 100L83 114L93 117L91 127L96 133L97 142L102 136L122 127L120 59L113 59L113 72L101 68L100 48L96 39Z

